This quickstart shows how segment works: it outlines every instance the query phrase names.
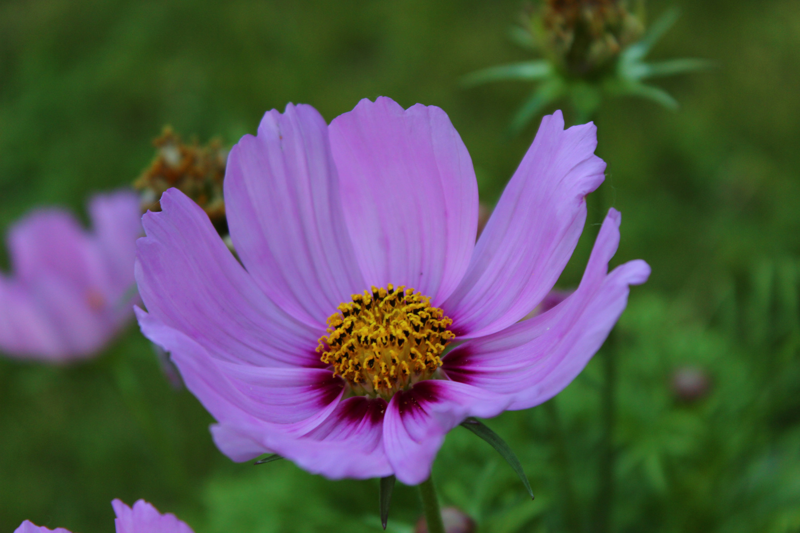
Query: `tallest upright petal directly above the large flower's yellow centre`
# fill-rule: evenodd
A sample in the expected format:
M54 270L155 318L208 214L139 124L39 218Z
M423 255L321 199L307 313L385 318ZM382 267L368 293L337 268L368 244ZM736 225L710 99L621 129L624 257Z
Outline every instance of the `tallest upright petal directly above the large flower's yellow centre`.
M366 284L403 284L444 301L478 228L472 160L446 113L364 99L330 123L330 145Z

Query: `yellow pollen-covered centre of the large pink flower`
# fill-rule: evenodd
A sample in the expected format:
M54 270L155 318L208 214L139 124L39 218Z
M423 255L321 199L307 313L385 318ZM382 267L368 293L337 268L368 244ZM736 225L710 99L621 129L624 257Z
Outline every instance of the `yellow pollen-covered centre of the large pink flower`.
M317 352L355 394L388 400L430 379L455 336L453 320L413 288L372 287L337 309Z

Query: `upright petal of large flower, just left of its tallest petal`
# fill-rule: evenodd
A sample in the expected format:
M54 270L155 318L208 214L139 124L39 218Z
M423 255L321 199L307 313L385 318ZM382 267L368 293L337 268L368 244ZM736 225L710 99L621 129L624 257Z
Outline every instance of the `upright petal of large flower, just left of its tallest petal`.
M339 201L328 126L310 105L266 113L228 157L230 237L248 272L298 320L325 328L365 288Z

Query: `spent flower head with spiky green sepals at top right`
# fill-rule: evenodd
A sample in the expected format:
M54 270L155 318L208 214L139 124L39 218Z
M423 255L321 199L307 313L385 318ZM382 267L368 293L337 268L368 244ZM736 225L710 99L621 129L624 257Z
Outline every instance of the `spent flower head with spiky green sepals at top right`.
M645 83L709 66L700 59L645 62L677 19L678 11L668 10L646 28L643 1L631 6L626 0L541 0L511 32L514 42L538 59L478 70L462 82L534 82L511 121L511 133L520 133L548 105L562 100L570 102L578 122L589 120L604 97L642 97L677 109L669 93Z

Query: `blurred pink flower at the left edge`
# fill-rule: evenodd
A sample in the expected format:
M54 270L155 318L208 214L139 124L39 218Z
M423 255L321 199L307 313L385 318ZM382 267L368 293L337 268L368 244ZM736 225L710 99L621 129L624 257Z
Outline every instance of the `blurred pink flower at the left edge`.
M14 272L0 273L0 352L54 363L86 358L132 317L138 198L98 195L89 213L91 232L62 209L38 209L10 229Z

